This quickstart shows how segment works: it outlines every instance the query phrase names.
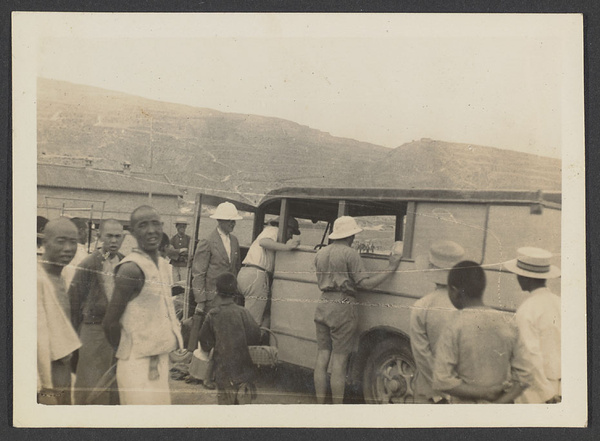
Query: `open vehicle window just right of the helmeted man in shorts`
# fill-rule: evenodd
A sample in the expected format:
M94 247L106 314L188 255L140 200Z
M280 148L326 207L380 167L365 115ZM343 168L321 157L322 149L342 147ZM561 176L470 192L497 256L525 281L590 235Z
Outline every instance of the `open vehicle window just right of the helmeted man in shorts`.
M353 248L364 254L388 255L394 245L396 216L355 217L363 231L356 236Z

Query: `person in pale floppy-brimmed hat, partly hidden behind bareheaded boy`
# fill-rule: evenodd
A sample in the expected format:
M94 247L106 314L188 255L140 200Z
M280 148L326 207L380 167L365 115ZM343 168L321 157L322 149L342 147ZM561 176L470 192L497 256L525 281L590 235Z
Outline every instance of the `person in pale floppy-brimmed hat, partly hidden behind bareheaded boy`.
M447 397L431 387L433 361L437 342L448 326L456 308L448 297L448 272L460 262L465 250L450 240L439 240L431 245L429 253L415 260L417 269L435 283L435 289L417 300L410 315L410 345L417 372L412 387L415 403L445 403Z

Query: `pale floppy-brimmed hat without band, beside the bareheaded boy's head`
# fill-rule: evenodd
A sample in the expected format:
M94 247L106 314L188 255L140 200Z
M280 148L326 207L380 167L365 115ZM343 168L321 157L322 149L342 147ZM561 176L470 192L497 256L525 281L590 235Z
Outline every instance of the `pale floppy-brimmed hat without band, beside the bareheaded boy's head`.
M417 269L427 271L428 276L438 285L448 283L448 272L463 260L465 250L451 240L439 240L429 247L429 253L415 259Z

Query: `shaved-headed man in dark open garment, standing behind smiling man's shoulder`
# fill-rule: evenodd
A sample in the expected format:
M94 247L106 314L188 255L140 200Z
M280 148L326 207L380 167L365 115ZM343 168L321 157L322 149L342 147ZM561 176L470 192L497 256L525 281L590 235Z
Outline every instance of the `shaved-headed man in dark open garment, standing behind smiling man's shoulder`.
M114 289L114 271L123 259L119 253L125 235L123 225L107 219L100 226L101 248L77 267L69 287L71 322L79 333L81 349L75 378L75 404L117 404L115 390L107 390L88 403L98 380L113 364L114 349L106 339L102 320Z

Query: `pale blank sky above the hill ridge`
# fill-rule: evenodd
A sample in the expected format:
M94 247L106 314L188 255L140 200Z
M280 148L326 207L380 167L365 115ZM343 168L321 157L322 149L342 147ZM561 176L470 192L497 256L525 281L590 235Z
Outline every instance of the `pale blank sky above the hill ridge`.
M88 16L40 31L39 76L390 148L431 138L561 156L573 77L552 20Z

